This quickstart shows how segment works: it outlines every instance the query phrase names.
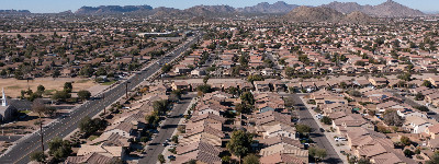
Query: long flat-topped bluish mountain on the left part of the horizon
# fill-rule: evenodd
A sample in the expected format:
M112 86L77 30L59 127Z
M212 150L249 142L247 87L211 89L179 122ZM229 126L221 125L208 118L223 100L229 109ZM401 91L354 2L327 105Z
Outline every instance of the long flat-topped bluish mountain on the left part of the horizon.
M108 13L128 13L139 11L150 11L150 5L100 5L100 7L82 7L75 13L77 14L108 14Z

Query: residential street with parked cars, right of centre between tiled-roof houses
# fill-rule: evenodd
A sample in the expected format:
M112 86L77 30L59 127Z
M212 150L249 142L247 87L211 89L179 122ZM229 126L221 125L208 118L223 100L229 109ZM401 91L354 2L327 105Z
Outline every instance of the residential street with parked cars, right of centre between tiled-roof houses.
M317 147L320 149L325 149L327 156L324 160L325 163L330 164L338 164L342 163L340 156L338 156L336 150L333 148L328 139L325 137L323 132L320 132L319 127L313 116L311 115L309 110L306 108L302 99L299 97L297 94L284 94L283 96L291 96L293 97L296 106L301 109L297 110L297 115L300 117L300 124L309 126L313 130L309 137L317 143Z

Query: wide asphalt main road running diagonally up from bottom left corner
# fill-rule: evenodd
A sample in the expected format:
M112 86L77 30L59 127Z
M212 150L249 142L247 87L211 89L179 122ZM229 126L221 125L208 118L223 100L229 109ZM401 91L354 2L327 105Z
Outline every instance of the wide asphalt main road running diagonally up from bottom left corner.
M168 54L170 59L178 57L181 52L187 50L191 44L198 42L200 36L191 42L187 42L185 44L181 45L176 50ZM159 60L160 63L165 63L170 61L170 59L161 58ZM134 89L137 84L143 82L148 77L153 75L157 70L161 68L160 65L154 63L149 68L145 69L136 73L131 79L122 82L120 85L116 85L104 93L105 98L95 98L94 101L89 101L83 105L79 106L77 109L70 113L68 117L63 119L58 119L56 122L45 127L43 129L44 134L44 148L47 150L47 143L55 137L64 138L75 131L78 128L79 121L86 117L93 117L98 115L104 107L110 106L114 102L116 102L120 97L125 96L125 85L127 83L128 91ZM100 97L101 95L97 95ZM13 148L11 148L5 154L0 157L1 164L10 164L10 163L18 163L18 164L25 164L30 162L30 154L35 151L41 151L41 132L36 132L29 138L22 140L21 142L16 143Z

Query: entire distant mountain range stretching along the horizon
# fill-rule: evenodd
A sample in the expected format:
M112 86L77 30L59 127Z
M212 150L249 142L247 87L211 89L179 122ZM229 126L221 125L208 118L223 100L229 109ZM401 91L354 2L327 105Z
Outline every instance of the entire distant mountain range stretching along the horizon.
M189 9L180 10L173 8L153 8L150 5L100 5L82 7L75 14L117 14L117 13L145 13L155 16L223 16L237 14L286 14L300 5L288 4L283 1L275 3L261 2L252 7L233 8L229 5L195 5ZM418 16L425 15L419 10L402 5L393 0L387 0L378 5L361 5L357 2L337 2L319 5L316 9L334 9L338 12L350 14L362 12L371 16L397 17L397 16ZM314 9L313 9L314 11ZM324 10L327 11L327 10ZM30 13L29 11L0 10L0 13ZM358 13L356 13L358 15Z

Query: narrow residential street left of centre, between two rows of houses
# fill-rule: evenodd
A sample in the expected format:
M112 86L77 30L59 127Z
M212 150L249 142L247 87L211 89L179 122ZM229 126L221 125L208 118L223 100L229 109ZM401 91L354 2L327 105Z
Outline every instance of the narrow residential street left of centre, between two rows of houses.
M149 145L145 148L147 149L146 155L143 159L140 159L138 163L142 164L157 163L157 156L161 154L165 150L165 147L161 144L166 141L166 139L172 137L172 133L177 129L180 119L182 119L180 115L184 114L192 98L195 96L196 96L195 94L183 95L182 101L180 101L180 104L175 105L175 108L172 109L170 117L168 117L165 120L158 134L153 139ZM165 156L165 159L167 159L167 156Z

